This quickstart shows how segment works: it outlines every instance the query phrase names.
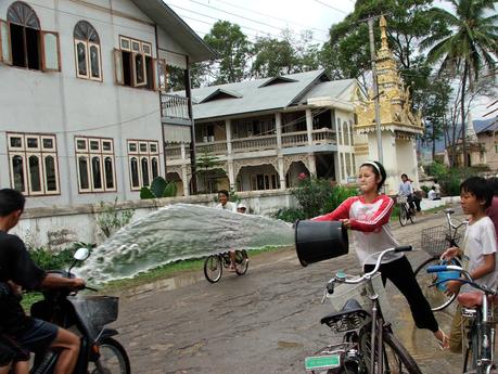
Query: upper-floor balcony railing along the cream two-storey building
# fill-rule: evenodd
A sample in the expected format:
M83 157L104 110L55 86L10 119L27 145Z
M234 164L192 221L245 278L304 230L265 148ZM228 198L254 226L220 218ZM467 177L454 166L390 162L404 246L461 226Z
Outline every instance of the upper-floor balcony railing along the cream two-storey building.
M335 131L330 129L312 130L312 144L335 144ZM308 136L306 131L282 133L282 147L306 146L308 145ZM277 149L277 136L251 137L232 140L233 153L258 152ZM210 153L217 156L228 154L226 141L215 141L196 143L195 151L197 154ZM170 159L181 158L180 145L166 146L166 156ZM189 157L189 150L186 150Z

